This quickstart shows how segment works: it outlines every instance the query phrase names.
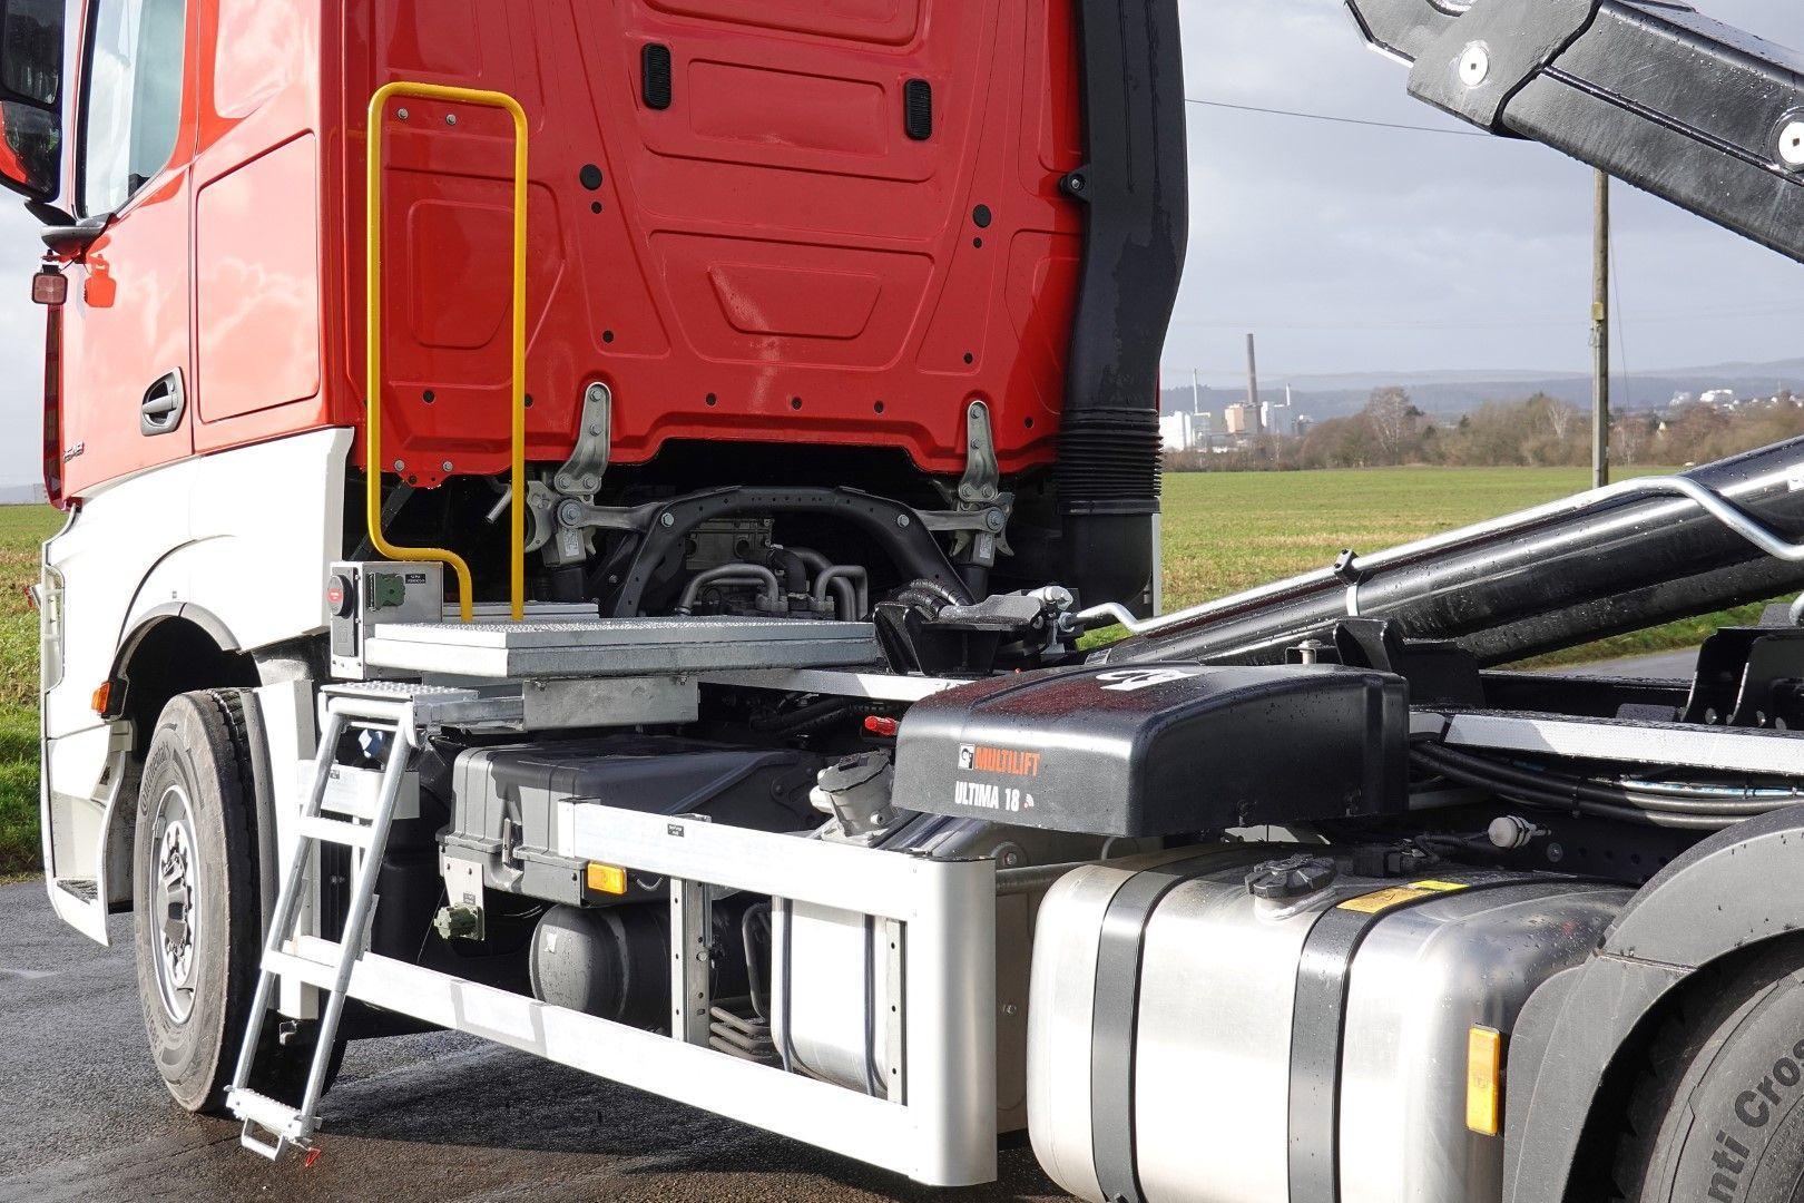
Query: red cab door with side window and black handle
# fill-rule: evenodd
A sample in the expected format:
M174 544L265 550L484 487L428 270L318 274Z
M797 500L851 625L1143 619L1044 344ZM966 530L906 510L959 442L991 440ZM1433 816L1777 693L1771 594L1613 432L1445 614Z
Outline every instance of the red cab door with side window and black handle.
M188 9L188 0L92 0L85 13L72 197L78 216L103 229L69 267L69 496L195 447Z

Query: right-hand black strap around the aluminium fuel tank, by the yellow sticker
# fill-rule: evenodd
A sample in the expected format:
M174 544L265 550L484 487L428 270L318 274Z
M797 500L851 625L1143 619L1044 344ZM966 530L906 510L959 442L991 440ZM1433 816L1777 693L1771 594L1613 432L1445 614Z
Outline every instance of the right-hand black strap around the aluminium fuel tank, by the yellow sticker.
M1290 1203L1340 1203L1340 1048L1353 958L1398 911L1452 893L1523 886L1521 873L1447 873L1337 902L1302 941L1290 1019Z

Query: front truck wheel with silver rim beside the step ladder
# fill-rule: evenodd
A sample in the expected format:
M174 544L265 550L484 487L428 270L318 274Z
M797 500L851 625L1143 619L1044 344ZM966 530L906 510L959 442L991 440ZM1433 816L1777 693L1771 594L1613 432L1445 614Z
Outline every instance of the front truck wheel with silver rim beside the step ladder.
M157 718L132 849L137 992L152 1061L188 1111L224 1111L263 945L245 691L173 698ZM296 1095L312 1057L265 1024L256 1086ZM343 1048L334 1050L336 1071Z

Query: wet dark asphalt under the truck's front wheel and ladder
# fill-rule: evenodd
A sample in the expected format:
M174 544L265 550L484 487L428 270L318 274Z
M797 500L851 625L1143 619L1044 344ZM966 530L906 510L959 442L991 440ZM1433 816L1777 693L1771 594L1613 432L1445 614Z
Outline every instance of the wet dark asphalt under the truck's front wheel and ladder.
M130 916L101 949L40 882L0 886L0 1201L52 1199L1064 1199L1026 1147L962 1192L455 1033L359 1041L323 1156L271 1165L170 1102L150 1064Z

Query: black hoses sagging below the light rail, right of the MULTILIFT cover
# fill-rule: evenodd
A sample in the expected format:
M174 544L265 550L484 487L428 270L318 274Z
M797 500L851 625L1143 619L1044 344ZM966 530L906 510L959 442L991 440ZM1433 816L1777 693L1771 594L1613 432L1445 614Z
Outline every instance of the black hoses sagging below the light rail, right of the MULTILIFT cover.
M1438 743L1418 743L1409 756L1427 772L1526 806L1690 831L1719 831L1743 819L1804 803L1804 792L1793 788L1611 781L1503 763Z

